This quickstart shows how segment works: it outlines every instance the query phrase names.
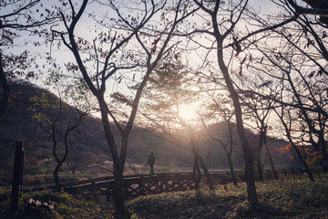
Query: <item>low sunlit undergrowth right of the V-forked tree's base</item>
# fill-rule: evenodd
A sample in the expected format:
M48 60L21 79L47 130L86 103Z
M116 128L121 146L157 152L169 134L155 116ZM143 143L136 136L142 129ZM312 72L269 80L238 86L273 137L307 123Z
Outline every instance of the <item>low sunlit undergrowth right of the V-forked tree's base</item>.
M217 186L179 193L140 196L128 203L135 219L166 218L328 218L328 175L315 182L291 178L256 183L259 204L251 209L246 185Z

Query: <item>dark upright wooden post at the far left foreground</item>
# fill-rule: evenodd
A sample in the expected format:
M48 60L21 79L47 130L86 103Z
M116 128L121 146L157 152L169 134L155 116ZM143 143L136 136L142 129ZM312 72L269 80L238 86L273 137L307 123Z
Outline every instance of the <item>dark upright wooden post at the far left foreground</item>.
M23 180L23 160L24 160L24 144L23 141L15 142L15 162L12 183L12 195L10 202L10 211L17 211L18 196L22 189Z

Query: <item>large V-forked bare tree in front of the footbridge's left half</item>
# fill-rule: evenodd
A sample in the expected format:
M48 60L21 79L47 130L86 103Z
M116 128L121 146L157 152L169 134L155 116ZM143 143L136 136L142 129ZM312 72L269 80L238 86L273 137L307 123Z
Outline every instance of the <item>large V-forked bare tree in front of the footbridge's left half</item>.
M53 30L56 36L60 36L64 45L72 52L77 64L70 63L68 68L76 69L80 72L83 80L86 81L87 87L96 97L101 119L105 130L105 137L108 141L108 147L114 162L114 198L115 212L117 218L124 218L124 192L123 192L123 171L128 150L128 136L133 127L138 103L141 98L143 89L145 88L149 76L153 69L159 63L161 57L167 54L170 49L169 41L176 26L191 12L187 12L189 8L188 1L179 1L176 5L169 7L168 13L161 14L162 23L160 28L154 29L151 26L153 20L151 18L165 6L165 2L155 4L154 1L140 1L134 5L128 5L126 11L121 10L122 5L115 1L100 2L102 7L115 13L113 17L108 15L103 17L94 16L95 20L103 29L97 37L89 43L82 36L77 36L77 23L81 17L86 15L87 0L84 0L79 6L72 1L67 1L67 7L70 14L66 11L60 11L63 19L64 30ZM135 6L135 7L134 7ZM134 7L134 8L133 8ZM131 8L135 9L132 10ZM135 14L131 13L134 12ZM126 14L126 15L125 15ZM149 33L149 31L151 32ZM149 38L152 40L149 45ZM134 46L129 46L130 44ZM84 60L84 53L89 58ZM87 62L93 65L93 68L87 67ZM142 69L143 74L138 77L138 83L135 81L135 74ZM106 91L108 80L117 76L119 72L128 71L129 78L135 83L136 91L134 98L128 108L128 120L124 123L118 121L118 115L115 115L115 109L108 107ZM121 74L117 78L118 83L127 76ZM119 96L119 93L113 94ZM124 99L124 96L122 96ZM109 119L112 119L121 135L120 145L114 138L112 126ZM123 127L124 126L124 127ZM118 151L119 150L119 151Z

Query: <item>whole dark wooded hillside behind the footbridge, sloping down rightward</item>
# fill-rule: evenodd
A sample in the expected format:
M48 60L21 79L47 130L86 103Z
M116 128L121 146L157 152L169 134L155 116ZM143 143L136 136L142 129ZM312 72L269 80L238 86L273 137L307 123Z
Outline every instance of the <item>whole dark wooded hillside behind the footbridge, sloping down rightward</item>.
M0 119L0 184L8 185L12 180L12 168L14 161L15 141L26 142L26 159L24 171L25 184L52 183L52 171L55 162L52 156L52 141L49 135L49 127L32 118L31 98L46 93L52 99L56 96L46 89L40 89L30 83L13 84L11 99ZM56 113L56 111L54 112ZM62 124L58 126L59 145L63 142L63 130L65 121L69 120L69 114L63 111ZM212 125L213 133L224 135L227 127L224 123ZM235 168L243 167L241 145L234 128L234 152L233 162ZM180 134L180 133L177 133ZM253 147L257 146L257 137L248 131ZM119 133L117 132L119 137ZM180 135L183 138L183 134ZM228 169L228 163L224 152L214 141L210 141L206 134L200 141L200 153L211 169ZM118 138L119 140L119 138ZM186 139L186 142L188 140ZM96 178L110 175L105 169L111 169L111 156L101 120L87 116L81 125L74 130L70 137L70 153L67 164L60 172L62 182L79 179ZM290 159L277 151L278 147L285 146L284 141L269 139L274 162L277 166L292 165ZM63 147L59 151L63 151ZM145 167L148 154L153 151L156 156L155 172L191 171L192 155L189 151L176 148L166 141L151 135L149 132L134 129L129 137L128 158L126 173L147 173ZM265 152L264 156L265 157Z

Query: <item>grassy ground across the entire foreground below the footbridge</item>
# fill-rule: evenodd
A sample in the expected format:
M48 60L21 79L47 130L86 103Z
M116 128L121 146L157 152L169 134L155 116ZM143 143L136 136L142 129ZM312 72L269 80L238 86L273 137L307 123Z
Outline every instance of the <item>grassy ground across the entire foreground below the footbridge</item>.
M167 218L328 218L328 175L316 181L290 177L278 181L256 183L259 205L250 210L246 185L218 185L213 193L200 191L161 193L141 196L127 202L127 211L135 219ZM0 218L112 218L110 203L86 201L67 193L35 193L23 195L20 209L29 197L51 202L51 212L18 211L8 213L9 192L0 191Z

